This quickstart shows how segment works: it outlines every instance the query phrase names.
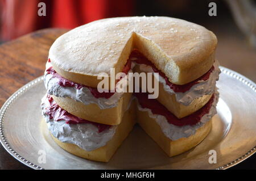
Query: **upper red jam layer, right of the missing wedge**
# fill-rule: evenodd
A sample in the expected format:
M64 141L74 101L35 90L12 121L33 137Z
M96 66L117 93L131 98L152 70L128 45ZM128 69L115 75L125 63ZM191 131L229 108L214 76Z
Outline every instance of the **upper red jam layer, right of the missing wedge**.
M136 59L132 60L134 58L136 58ZM133 52L131 52L128 61L135 61L137 64L146 64L146 65L151 66L152 69L155 71L155 73L159 73L159 75L162 76L166 80L166 84L168 86L170 86L170 88L172 90L174 90L175 92L188 91L189 89L191 89L191 87L193 85L199 83L199 81L207 81L210 77L210 73L212 73L212 71L214 70L214 66L212 66L212 68L210 68L210 70L208 70L207 73L205 73L201 77L197 78L195 81L189 82L185 85L176 85L174 83L171 83L168 80L168 78L166 77L166 74L164 74L162 71L160 71L158 68L156 68L156 66L154 64L152 64L152 62L149 61L145 56L143 56L143 54L141 52L139 52L137 49L135 49L135 50L133 50Z

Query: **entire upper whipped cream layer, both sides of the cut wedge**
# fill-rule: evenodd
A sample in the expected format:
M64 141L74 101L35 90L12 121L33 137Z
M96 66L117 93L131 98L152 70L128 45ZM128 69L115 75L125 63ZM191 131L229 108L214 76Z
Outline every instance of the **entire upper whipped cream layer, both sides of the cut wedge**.
M139 65L139 69L144 72L154 73L154 70L151 66L145 64L137 64ZM170 86L166 84L166 80L159 75L159 82L163 84L164 90L169 94L175 94L177 102L188 106L193 102L193 100L200 98L203 95L213 94L216 81L218 80L220 69L218 68L218 61L216 60L213 64L214 70L210 73L209 79L207 81L199 81L196 85L193 85L191 89L185 92L175 92L171 89ZM51 66L50 62L46 64L46 70ZM135 63L132 62L131 68L135 66ZM129 71L129 73L132 70ZM116 85L118 84L125 85L127 81L127 76L122 78ZM110 98L95 98L90 90L87 87L82 87L81 89L76 89L76 87L63 87L59 85L59 79L53 77L52 74L44 73L44 86L47 89L47 93L50 95L55 95L57 97L69 97L78 102L88 104L97 104L101 109L113 108L118 106L119 99L123 96L122 91L116 91Z

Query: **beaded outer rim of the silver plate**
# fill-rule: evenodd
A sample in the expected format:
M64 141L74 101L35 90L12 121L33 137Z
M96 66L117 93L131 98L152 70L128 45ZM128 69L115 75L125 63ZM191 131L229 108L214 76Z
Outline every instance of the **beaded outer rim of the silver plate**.
M220 66L220 69L221 69L221 73L224 73L230 77L236 78L238 81L240 81L240 82L244 83L246 86L250 87L256 93L256 84L253 81L251 81L250 79L237 73L236 71L230 70L223 66ZM0 110L0 142L3 146L3 148L5 148L6 151L8 153L10 153L19 162L23 163L24 165L26 165L32 169L37 169L37 170L44 170L44 168L40 167L38 165L35 165L34 163L28 161L28 159L26 159L26 158L23 158L21 155L19 155L19 153L17 153L13 148L11 148L7 138L5 137L5 133L3 132L3 123L4 123L4 119L5 119L5 113L9 109L10 104L13 103L20 95L22 95L28 89L31 89L31 87L38 85L38 83L40 83L41 81L43 81L43 75L41 77L34 79L31 82L28 82L26 85L22 86L18 91L14 92L14 94L11 95L9 99L6 100L6 102L3 104L3 106ZM256 152L256 145L252 149L247 151L246 154L242 155L240 158L237 158L230 163L226 163L223 166L217 167L216 170L224 170L224 169L228 169L229 167L232 167L234 165L237 165L238 163L244 161L246 158L249 158L255 152Z

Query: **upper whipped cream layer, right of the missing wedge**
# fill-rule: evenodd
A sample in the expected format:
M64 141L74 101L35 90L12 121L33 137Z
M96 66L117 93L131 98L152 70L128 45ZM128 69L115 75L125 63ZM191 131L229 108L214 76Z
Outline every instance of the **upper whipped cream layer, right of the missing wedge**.
M144 72L151 72L154 73L154 70L151 66L145 64L137 64L139 65L139 69ZM218 81L218 77L220 74L220 68L218 68L219 64L216 60L213 64L214 70L210 73L209 78L204 81L198 81L195 85L191 87L188 91L185 92L175 92L171 89L170 86L167 85L166 80L159 75L159 82L163 84L164 90L170 94L175 94L177 102L188 106L193 102L193 100L200 98L204 95L213 94L216 86L216 81Z

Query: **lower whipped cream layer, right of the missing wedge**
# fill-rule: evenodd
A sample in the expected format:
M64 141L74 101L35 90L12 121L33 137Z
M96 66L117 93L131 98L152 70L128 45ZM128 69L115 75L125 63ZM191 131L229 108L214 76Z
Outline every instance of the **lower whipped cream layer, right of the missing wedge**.
M183 138L183 137L187 138L195 134L198 128L202 127L205 123L207 123L207 121L209 121L217 113L216 106L218 102L218 96L219 96L218 91L215 90L212 107L210 107L210 110L208 113L206 113L204 116L201 117L199 123L195 125L184 125L182 127L179 127L174 124L170 124L168 123L168 120L166 119L166 117L162 115L156 115L152 113L151 110L148 108L142 108L139 103L138 103L138 110L147 111L148 116L150 116L152 119L156 121L156 123L159 124L164 135L170 138L170 140L175 141L175 140L178 140L179 138Z

